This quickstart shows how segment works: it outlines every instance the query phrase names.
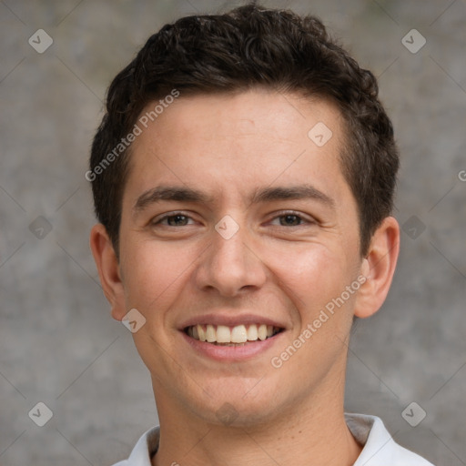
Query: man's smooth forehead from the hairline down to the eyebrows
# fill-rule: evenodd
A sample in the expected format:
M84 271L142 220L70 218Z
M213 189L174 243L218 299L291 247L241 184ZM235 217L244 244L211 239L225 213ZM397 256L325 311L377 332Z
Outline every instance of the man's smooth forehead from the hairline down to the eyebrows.
M210 187L214 197L307 178L328 188L342 180L342 117L331 103L253 89L152 102L141 112L127 188L158 181ZM157 110L157 111L156 111ZM238 188L243 192L239 193ZM127 190L127 189L126 189ZM216 191L216 192L214 192Z

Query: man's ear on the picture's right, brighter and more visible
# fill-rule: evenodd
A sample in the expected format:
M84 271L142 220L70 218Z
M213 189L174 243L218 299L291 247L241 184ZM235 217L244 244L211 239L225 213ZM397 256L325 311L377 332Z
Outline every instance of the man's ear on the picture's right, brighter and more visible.
M385 218L370 240L360 273L366 281L360 287L354 315L361 319L375 314L387 298L400 252L400 225L393 217Z

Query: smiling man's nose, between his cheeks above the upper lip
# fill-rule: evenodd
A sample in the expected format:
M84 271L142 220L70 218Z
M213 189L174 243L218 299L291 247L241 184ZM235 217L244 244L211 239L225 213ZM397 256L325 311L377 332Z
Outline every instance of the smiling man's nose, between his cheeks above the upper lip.
M260 288L267 279L267 268L247 228L239 228L230 238L218 231L213 229L210 247L200 258L196 270L198 288L216 289L230 298Z

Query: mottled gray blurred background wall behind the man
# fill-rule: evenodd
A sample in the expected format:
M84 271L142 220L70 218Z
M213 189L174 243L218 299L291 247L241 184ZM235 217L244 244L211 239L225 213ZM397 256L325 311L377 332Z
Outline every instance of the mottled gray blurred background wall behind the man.
M355 328L346 409L380 416L396 441L438 465L464 465L465 0L264 5L319 15L380 76L402 153L399 267L386 304ZM84 173L111 78L160 26L222 7L0 2L3 466L108 465L157 423L148 372L98 284ZM28 44L39 28L54 40L43 54ZM427 40L416 54L401 43L412 28ZM28 417L39 401L54 414L44 427ZM427 413L417 427L401 416L412 401Z

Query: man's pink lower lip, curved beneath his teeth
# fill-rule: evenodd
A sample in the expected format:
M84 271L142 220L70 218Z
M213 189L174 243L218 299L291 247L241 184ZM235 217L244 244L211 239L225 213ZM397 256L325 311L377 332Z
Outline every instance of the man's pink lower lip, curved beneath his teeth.
M277 335L270 337L264 340L249 341L243 346L220 346L213 345L207 341L200 341L198 339L193 339L189 337L184 331L180 332L183 338L198 353L203 356L207 356L212 360L221 360L221 361L242 361L249 360L258 356L258 354L267 351L271 348L277 340L281 337L283 331L279 332Z

